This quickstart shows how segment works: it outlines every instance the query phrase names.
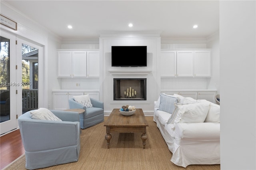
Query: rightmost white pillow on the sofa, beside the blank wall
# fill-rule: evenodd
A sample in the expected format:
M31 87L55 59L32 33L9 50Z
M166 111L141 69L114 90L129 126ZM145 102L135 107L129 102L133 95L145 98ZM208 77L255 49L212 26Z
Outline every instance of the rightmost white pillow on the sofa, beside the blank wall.
M210 103L209 111L204 122L220 123L220 105Z

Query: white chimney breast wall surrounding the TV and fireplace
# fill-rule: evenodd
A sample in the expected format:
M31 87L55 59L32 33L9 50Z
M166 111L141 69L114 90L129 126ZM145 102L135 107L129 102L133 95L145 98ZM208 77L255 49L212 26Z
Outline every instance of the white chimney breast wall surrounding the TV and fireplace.
M112 45L146 45L147 46L147 67L111 67L111 46ZM160 93L158 61L160 55L160 36L158 37L129 37L129 38L106 38L100 37L100 93L104 101L104 112L111 113L114 108L121 108L123 105L134 105L136 108L142 108L144 112L151 112L153 115L154 101L157 100ZM130 61L129 58L124 62ZM113 75L109 71L150 71L148 75ZM114 101L113 85L114 78L146 78L147 79L147 100L146 101Z

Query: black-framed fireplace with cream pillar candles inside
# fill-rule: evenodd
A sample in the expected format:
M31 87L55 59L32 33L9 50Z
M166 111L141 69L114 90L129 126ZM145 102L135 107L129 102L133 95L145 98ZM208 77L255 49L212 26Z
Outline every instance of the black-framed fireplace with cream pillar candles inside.
M114 79L114 100L146 100L146 80Z

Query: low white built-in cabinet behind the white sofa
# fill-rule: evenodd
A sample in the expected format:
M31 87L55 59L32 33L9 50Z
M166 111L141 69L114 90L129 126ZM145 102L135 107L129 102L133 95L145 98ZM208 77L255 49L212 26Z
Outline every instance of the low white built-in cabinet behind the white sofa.
M215 96L217 94L217 91L214 90L193 90L193 91L182 91L182 90L162 90L161 93L165 93L167 95L174 95L174 94L178 94L181 95L183 97L192 97L193 99L205 99L207 101L210 101L212 103L216 103L215 101Z

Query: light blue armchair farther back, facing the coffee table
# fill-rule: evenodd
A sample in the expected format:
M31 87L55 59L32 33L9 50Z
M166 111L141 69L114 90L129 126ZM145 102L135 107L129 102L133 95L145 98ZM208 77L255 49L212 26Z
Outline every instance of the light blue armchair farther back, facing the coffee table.
M68 100L69 109L84 109L80 116L80 127L82 129L91 127L104 121L104 103L90 98L93 107L86 108L84 105L76 102L73 98Z

